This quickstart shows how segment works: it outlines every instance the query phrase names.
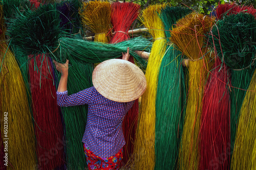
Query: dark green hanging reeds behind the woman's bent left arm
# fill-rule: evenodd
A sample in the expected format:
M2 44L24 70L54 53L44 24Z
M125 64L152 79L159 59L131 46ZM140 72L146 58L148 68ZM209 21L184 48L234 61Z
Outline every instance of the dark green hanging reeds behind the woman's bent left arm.
M92 72L93 65L75 60L69 56L69 79L68 79L68 94L79 92L83 89L92 87ZM61 73L57 73L58 80ZM66 154L67 154L67 168L68 169L84 169L87 167L86 157L83 152L83 145L81 139L84 130L86 129L88 106L71 106L61 107L63 120L65 123L66 140Z

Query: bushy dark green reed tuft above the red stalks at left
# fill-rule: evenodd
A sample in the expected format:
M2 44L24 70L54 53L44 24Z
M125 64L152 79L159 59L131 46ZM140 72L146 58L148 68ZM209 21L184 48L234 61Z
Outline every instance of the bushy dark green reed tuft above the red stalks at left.
M27 55L53 52L62 33L59 12L48 4L28 10L8 22L7 35L11 45Z

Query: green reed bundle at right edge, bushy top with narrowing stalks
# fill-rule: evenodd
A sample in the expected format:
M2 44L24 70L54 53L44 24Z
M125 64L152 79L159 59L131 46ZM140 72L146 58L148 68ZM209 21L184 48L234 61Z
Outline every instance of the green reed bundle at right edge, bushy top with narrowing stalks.
M217 54L231 68L231 151L239 147L234 146L239 112L254 71L255 28L254 16L246 13L226 16L212 28Z

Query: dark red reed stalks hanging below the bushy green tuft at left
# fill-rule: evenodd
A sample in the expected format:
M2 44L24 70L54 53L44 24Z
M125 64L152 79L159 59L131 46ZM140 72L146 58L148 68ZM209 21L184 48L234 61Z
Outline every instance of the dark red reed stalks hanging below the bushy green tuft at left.
M66 143L56 102L53 69L46 54L31 59L29 76L37 140L37 166L41 169L55 169L64 165L63 151Z

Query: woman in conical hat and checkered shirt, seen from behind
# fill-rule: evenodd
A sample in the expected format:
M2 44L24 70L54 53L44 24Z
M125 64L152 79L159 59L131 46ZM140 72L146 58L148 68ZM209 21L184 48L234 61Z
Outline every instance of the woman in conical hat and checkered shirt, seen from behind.
M57 104L62 107L88 105L88 118L82 142L89 169L118 169L125 144L122 121L146 89L139 67L129 60L129 47L122 59L106 60L93 71L93 87L68 96L68 64L54 61L61 72Z

